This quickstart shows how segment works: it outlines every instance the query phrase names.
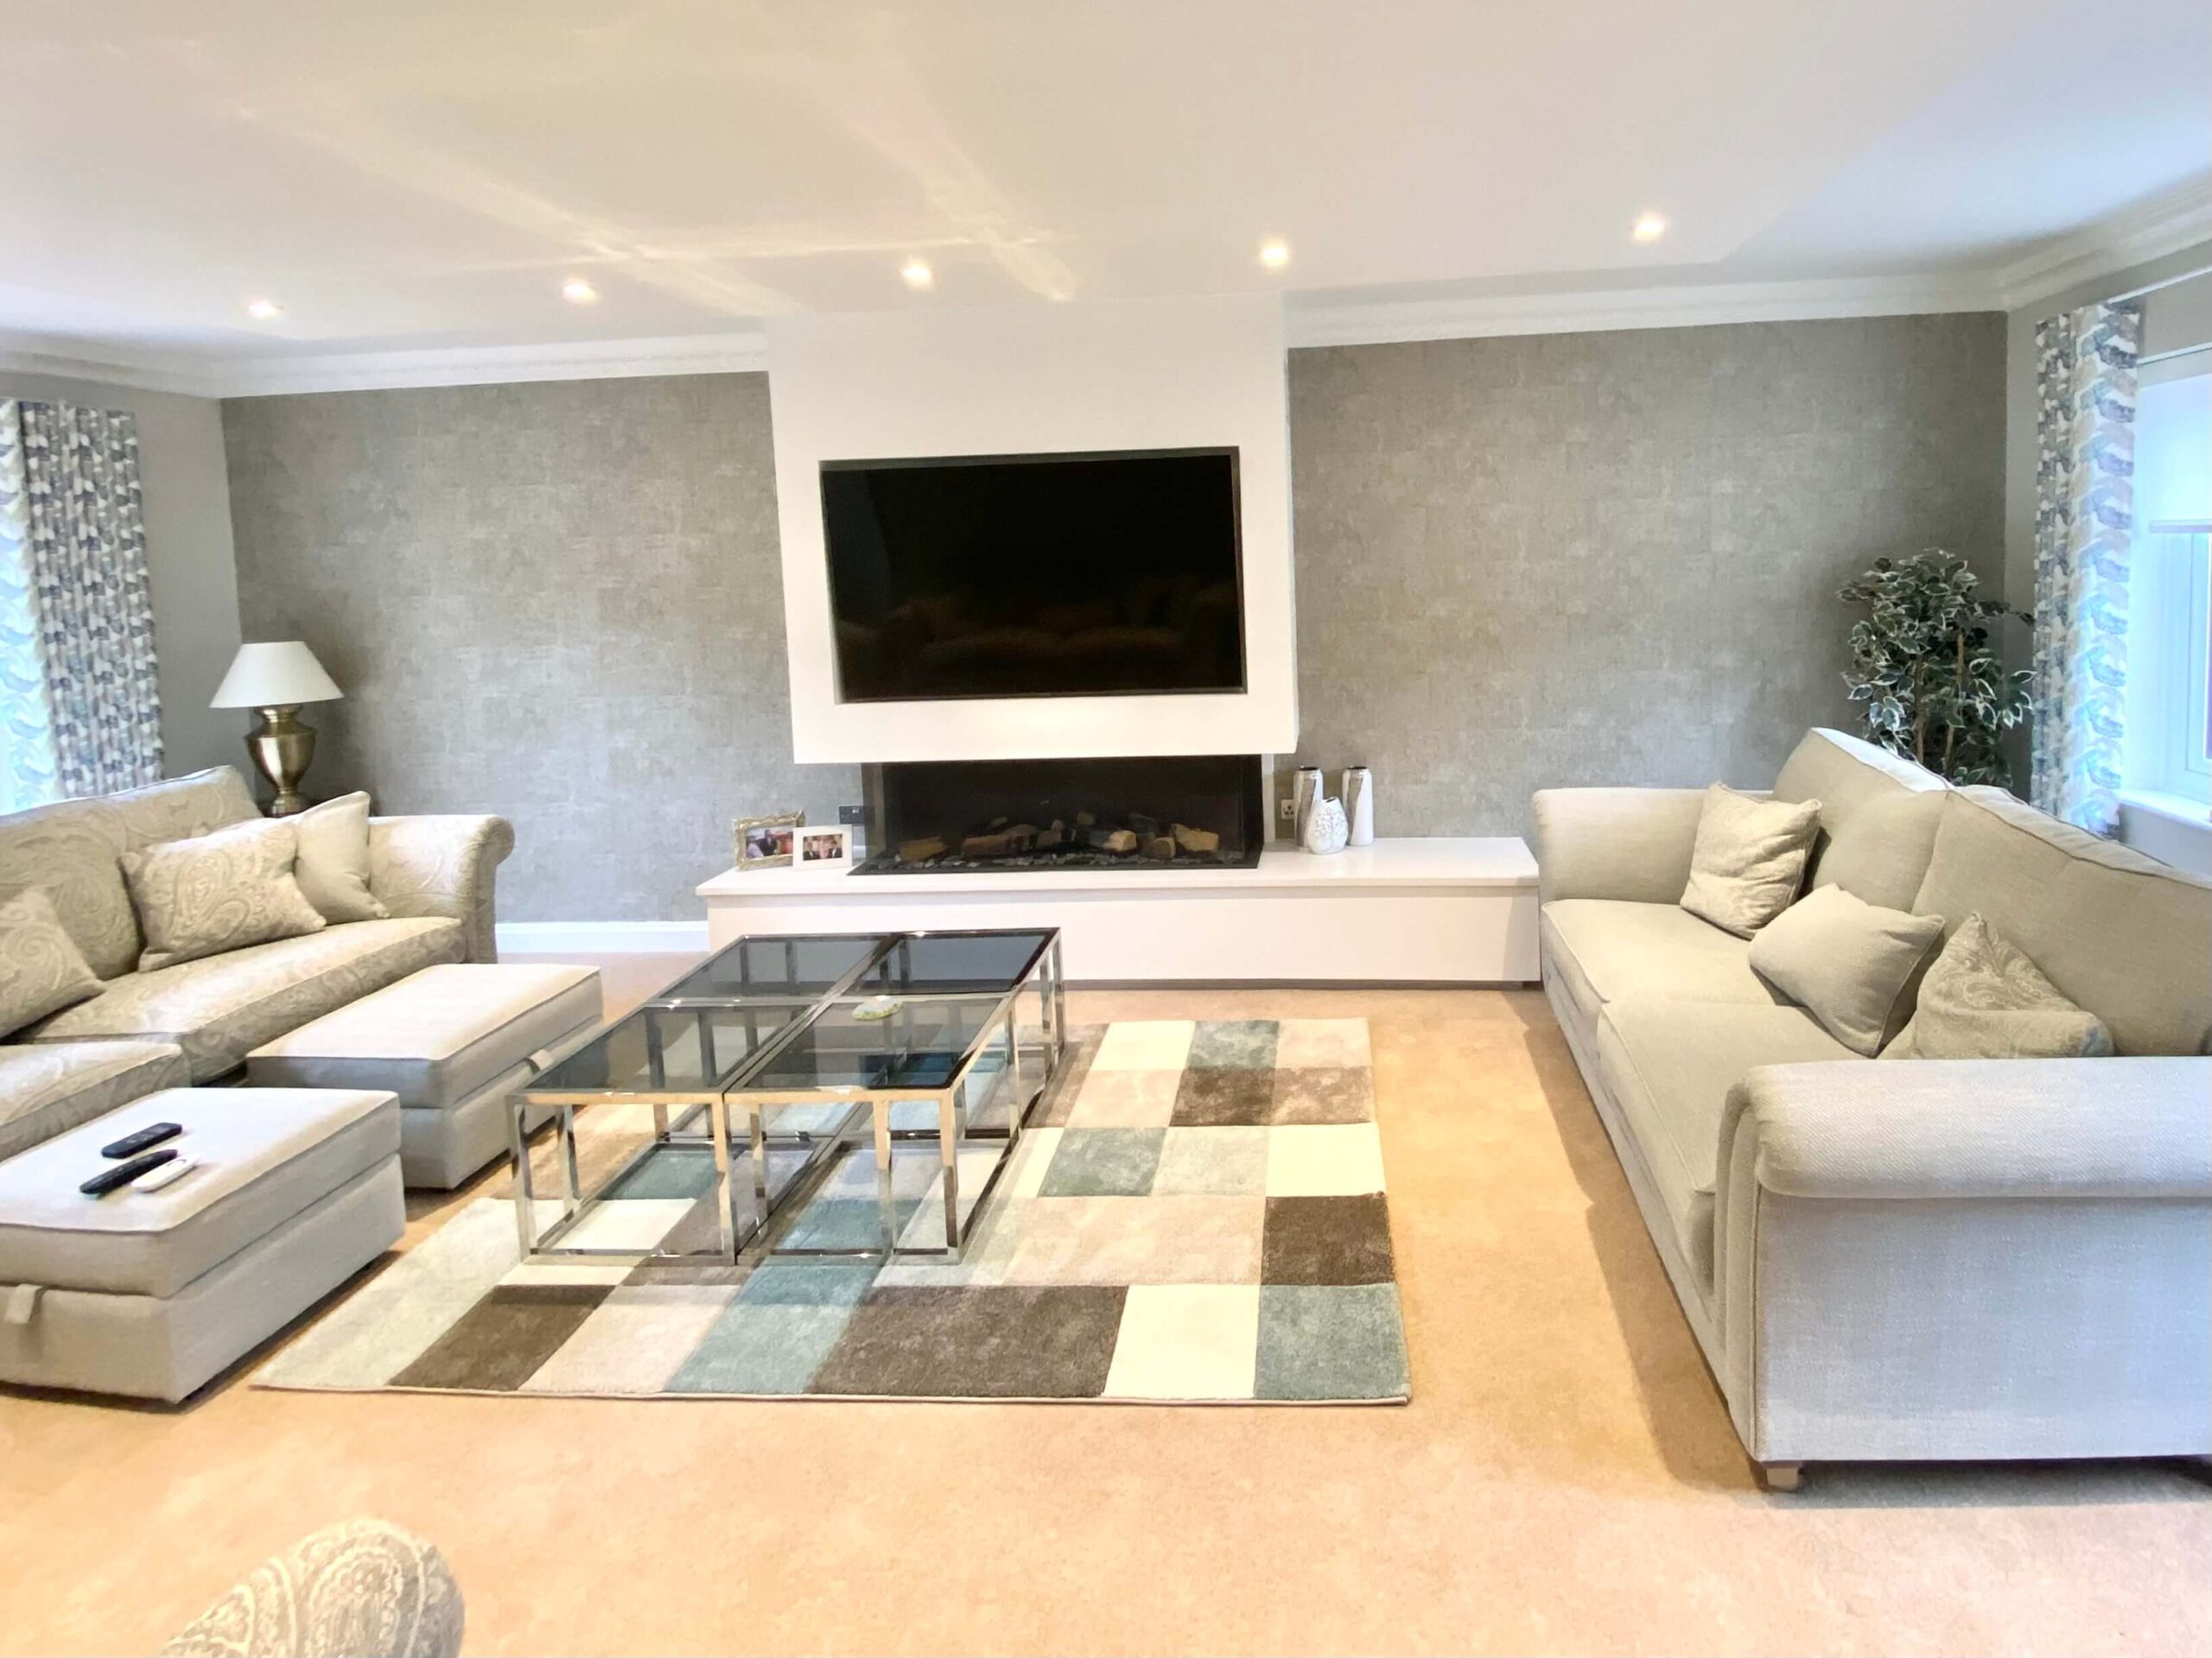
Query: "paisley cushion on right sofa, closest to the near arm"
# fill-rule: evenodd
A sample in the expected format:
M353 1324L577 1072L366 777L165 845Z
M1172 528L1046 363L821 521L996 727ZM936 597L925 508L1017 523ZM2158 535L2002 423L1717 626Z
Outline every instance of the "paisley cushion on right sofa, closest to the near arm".
M1920 982L1920 1006L1882 1059L2095 1059L2104 1021L2068 1001L2002 933L1969 915Z

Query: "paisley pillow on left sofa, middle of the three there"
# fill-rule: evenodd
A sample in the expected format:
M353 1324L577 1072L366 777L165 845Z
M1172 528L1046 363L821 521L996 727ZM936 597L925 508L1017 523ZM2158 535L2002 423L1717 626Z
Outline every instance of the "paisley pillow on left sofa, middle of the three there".
M330 926L292 878L296 851L281 818L126 851L124 882L146 933L139 973Z

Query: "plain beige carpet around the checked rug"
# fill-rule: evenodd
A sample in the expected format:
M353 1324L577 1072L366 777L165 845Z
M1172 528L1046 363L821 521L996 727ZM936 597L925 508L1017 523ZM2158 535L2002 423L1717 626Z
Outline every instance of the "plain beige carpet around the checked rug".
M440 1543L478 1654L2212 1649L2194 1470L1759 1492L1542 997L1071 1015L1371 1021L1407 1408L0 1395L0 1651L150 1649L349 1514Z

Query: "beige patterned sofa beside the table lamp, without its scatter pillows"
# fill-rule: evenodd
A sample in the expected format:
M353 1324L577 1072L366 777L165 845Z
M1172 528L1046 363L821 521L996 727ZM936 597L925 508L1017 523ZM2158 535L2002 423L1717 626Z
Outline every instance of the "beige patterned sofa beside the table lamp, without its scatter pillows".
M42 889L104 982L97 997L0 1043L0 1156L155 1088L201 1083L246 1054L434 962L495 957L493 871L504 818L369 820L369 889L389 920L139 973L144 948L122 856L259 816L221 765L144 789L0 818L0 893Z

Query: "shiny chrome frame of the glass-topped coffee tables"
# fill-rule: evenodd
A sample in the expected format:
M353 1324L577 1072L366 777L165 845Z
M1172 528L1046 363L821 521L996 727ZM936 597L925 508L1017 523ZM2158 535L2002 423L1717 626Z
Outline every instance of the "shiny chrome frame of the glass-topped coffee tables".
M938 1001L991 1001L991 1012L978 1028L969 1048L960 1054L958 1066L951 1077L938 1088L750 1088L750 1079L768 1070L770 1063L805 1030L812 1030L816 1019L836 1006L845 995L852 995L852 986L858 984L869 970L883 966L887 957L902 951L914 940L922 937L995 937L1006 933L1040 933L1044 942L1029 957L1013 984L1006 990L914 990L905 993L902 1001L916 1004L938 1004ZM646 1090L542 1090L524 1088L509 1099L507 1112L507 1134L509 1152L515 1163L515 1238L522 1251L522 1260L531 1265L560 1265L575 1260L595 1260L604 1265L737 1265L741 1258L759 1258L768 1253L794 1253L794 1256L865 1256L885 1258L894 1253L920 1253L920 1256L949 1256L951 1260L964 1258L967 1234L973 1225L960 1225L960 1145L962 1141L995 1141L1004 1138L998 1158L991 1163L991 1174L984 1176L982 1189L975 1194L975 1214L982 1214L982 1205L991 1198L1000 1174L1013 1158L1015 1147L1022 1138L1022 1125L1029 1110L1044 1092L1053 1085L1060 1074L1060 1066L1066 1059L1068 1043L1068 1015L1066 1015L1066 975L1062 970L1060 957L1060 928L958 928L958 931L929 931L929 933L803 933L792 937L779 935L745 935L732 940L714 955L723 955L732 948L743 951L748 946L796 946L801 942L821 940L845 940L845 937L867 937L878 940L878 948L869 951L854 968L849 968L836 984L818 995L721 995L721 997L677 997L670 995L675 984L692 977L699 968L688 968L681 979L661 990L661 995L648 997L637 1008L633 1008L624 1019L635 1012L699 1012L699 1041L706 1068L714 1066L714 1037L712 1037L712 1015L726 1010L803 1010L801 1017L790 1019L781 1030L770 1035L761 1046L737 1061L726 1077L717 1074L712 1088L697 1090L670 1090L653 1088ZM787 951L790 953L790 951ZM710 957L712 959L712 957ZM1040 1026L1044 1030L1044 1070L1037 1079L1037 1088L1026 1085L1026 1068L1022 1063L1022 1039L1020 1039L1020 1001L1026 993L1035 990ZM894 993L896 995L896 993ZM891 1015L894 1019L898 1012ZM593 1041L608 1037L622 1019L599 1030ZM1000 1048L1004 1043L1004 1048ZM586 1043L588 1046L588 1043ZM646 1024L646 1046L650 1054L653 1070L659 1072L659 1026ZM975 1072L984 1059L1004 1052L1004 1068L991 1074L984 1083L982 1099L971 1096L971 1083L978 1081ZM1006 1101L1006 1127L998 1130L975 1130L969 1132L969 1119L991 1101L991 1096L1011 1083L1011 1096ZM604 1187L617 1185L630 1169L644 1163L648 1156L668 1145L699 1145L701 1141L714 1154L714 1180L721 1192L721 1203L717 1205L719 1218L719 1249L708 1251L639 1251L639 1249L591 1249L573 1242L564 1242L577 1222L591 1214L591 1209L602 1203L597 1196L584 1196L582 1180L577 1174L577 1150L575 1150L575 1119L577 1112L591 1105L650 1105L653 1108L653 1138L639 1147L630 1158L624 1161L619 1169L606 1176ZM936 1123L931 1127L891 1127L894 1105L907 1103L933 1103ZM847 1110L838 1114L836 1125L830 1130L799 1130L792 1134L770 1132L770 1112L803 1108L803 1105L845 1105ZM555 1143L555 1165L560 1172L560 1205L562 1214L544 1231L538 1229L538 1192L535 1174L529 1158L529 1123L546 1112L553 1114L553 1143ZM706 1114L706 1132L699 1134L699 1119ZM737 1145L739 1123L734 1116L743 1119L745 1141L752 1152L752 1183L750 1200L745 1211L739 1207L737 1167L732 1158L732 1145ZM790 1227L790 1220L805 1207L807 1198L821 1187L827 1174L836 1167L843 1152L856 1141L863 1119L872 1119L874 1152L876 1152L876 1205L883 1220L883 1236L878 1247L869 1249L785 1249L779 1251L776 1242ZM945 1247L900 1247L898 1245L898 1209L891 1189L891 1147L898 1141L929 1141L938 1143L938 1163L945 1187ZM781 1185L772 1189L768 1178L768 1154L770 1150L803 1150L805 1163L801 1169ZM973 1220L973 1216L971 1216Z

